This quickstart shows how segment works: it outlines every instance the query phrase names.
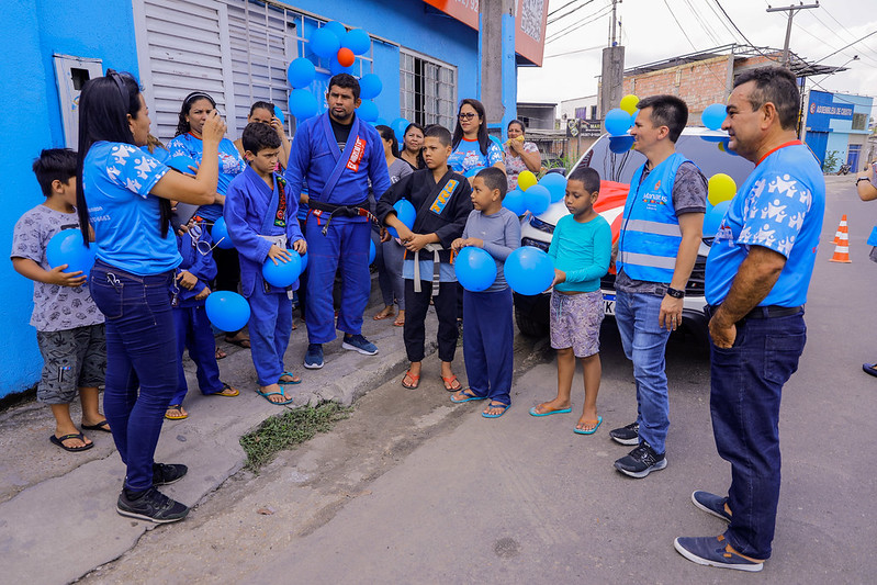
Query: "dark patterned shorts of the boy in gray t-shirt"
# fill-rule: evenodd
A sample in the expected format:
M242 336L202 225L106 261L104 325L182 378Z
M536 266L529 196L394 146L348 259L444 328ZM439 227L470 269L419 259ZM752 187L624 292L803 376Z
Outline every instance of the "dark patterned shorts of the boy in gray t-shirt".
M106 337L103 324L60 331L36 331L43 355L43 378L36 400L45 404L69 404L77 389L97 387L106 374Z

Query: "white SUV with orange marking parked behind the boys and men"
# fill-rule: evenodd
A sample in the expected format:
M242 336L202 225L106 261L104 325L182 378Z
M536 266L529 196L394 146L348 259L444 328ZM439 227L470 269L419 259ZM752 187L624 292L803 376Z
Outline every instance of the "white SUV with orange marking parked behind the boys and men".
M573 169L585 166L600 173L600 196L594 207L612 226L612 241L618 239L625 200L633 172L645 162L645 157L637 150L625 150L616 154L612 147L625 146L622 140L630 136L615 138L605 134L582 155ZM676 143L676 151L692 159L709 179L717 172L730 175L737 184L741 184L753 169L753 164L741 158L727 148L728 136L723 132L705 127L686 127ZM616 148L620 150L620 148ZM536 246L548 251L551 236L558 221L570 213L563 200L552 203L549 209L533 216L527 214L521 220L520 233L522 246ZM700 243L697 261L692 277L685 286L685 305L683 308L683 329L694 334L706 342L707 318L704 313L704 275L707 254L712 243L712 234ZM615 315L615 267L600 281L604 310L609 316ZM535 296L515 294L515 320L518 329L525 335L543 336L548 333L549 293Z

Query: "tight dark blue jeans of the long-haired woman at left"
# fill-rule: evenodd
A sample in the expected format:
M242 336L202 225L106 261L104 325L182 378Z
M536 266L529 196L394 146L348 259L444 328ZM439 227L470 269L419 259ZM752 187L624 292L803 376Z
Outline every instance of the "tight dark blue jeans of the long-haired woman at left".
M125 487L153 486L153 458L165 409L177 391L177 335L170 308L173 272L139 277L98 260L89 289L106 318L103 408Z

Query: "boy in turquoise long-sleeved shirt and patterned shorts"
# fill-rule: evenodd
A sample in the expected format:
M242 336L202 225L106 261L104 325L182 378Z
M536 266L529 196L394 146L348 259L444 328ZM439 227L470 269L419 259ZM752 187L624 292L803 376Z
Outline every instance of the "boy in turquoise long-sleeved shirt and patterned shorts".
M571 215L561 217L548 255L554 260L551 292L551 347L558 351L558 396L530 408L532 416L572 412L575 359L582 362L585 402L573 432L593 435L603 423L597 415L600 387L600 278L609 270L612 230L595 210L600 190L599 173L580 167L566 181L564 203Z

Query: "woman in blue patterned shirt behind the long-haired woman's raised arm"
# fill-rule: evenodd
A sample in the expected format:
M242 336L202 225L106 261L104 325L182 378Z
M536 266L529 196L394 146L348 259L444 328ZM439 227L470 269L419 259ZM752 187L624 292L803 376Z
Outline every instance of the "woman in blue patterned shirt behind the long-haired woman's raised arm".
M188 156L199 165L204 158L204 145L202 132L206 120L216 111L216 102L203 91L193 91L185 97L180 106L179 120L177 122L177 134L168 143L170 156ZM220 142L217 160L220 164L220 179L216 184L216 199L210 205L202 205L198 210L198 215L207 222L211 233L213 222L222 217L223 205L225 204L225 192L232 179L244 172L247 164L237 150L235 143L228 138ZM284 161L285 162L285 161ZM216 285L214 290L237 292L240 282L240 262L237 250L234 248L213 250L213 259L216 260ZM227 331L225 340L229 344L248 348L249 339L241 331ZM220 357L217 348L216 357Z

